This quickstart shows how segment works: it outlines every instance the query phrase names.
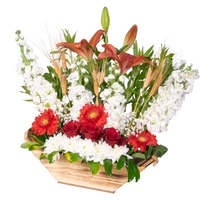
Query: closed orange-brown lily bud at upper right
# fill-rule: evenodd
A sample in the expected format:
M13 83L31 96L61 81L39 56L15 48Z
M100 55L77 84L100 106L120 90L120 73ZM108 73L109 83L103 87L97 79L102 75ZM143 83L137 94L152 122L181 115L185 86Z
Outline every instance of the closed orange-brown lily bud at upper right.
M124 48L124 52L128 51L130 47L133 45L135 42L135 38L137 35L137 25L133 25L131 29L127 32L125 38L124 38L124 44L123 46L126 46Z

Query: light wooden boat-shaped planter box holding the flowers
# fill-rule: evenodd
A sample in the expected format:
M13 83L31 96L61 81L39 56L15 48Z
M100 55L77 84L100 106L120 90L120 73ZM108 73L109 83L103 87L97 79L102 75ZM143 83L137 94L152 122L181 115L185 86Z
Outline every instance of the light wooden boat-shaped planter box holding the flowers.
M28 131L25 133L25 141L30 141ZM41 150L32 151L33 155L40 160ZM49 163L47 159L42 159L40 162L46 167L51 175L58 183L73 185L88 189L94 189L109 193L114 193L118 188L127 182L127 170L122 168L116 170L115 166L112 170L112 176L108 176L103 167L100 167L98 174L92 175L87 163L73 162L70 163L64 156L60 156L59 160L54 163ZM152 156L150 159L138 162L139 171L143 171L150 164L156 164L157 157Z

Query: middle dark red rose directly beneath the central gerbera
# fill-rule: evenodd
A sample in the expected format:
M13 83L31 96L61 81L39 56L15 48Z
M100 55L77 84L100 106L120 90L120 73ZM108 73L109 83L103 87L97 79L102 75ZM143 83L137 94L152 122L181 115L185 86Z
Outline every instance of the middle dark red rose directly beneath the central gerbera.
M85 122L82 124L80 132L83 138L91 139L92 141L97 142L101 135L102 127L96 126L92 122Z

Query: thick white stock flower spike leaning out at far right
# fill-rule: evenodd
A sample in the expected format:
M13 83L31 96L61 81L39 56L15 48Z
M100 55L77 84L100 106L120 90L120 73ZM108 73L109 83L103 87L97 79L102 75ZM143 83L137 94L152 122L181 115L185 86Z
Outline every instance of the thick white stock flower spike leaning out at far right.
M144 112L142 119L150 132L163 132L171 118L182 107L185 95L193 89L194 80L199 78L198 70L185 68L182 64L174 70L163 86L159 87L158 95Z

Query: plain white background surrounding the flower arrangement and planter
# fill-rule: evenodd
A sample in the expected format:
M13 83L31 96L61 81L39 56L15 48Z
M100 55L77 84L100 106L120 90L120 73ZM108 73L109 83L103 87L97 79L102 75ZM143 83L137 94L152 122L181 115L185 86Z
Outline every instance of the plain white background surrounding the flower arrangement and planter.
M126 32L137 24L140 46L154 44L158 48L166 43L188 64L200 69L198 0L7 0L0 4L0 199L200 199L200 80L168 131L158 135L169 151L158 165L141 173L138 183L127 183L115 194L61 185L30 152L20 148L24 132L38 113L19 92L22 80L16 65L20 54L15 44L17 29L39 44L46 37L45 23L55 32L59 26L77 32L77 41L89 40L101 28L101 11L107 6L111 18L109 42L114 46L121 47ZM29 44L45 67L48 60Z

